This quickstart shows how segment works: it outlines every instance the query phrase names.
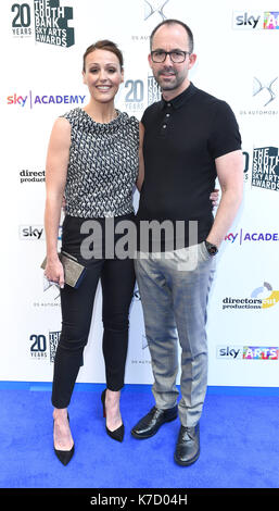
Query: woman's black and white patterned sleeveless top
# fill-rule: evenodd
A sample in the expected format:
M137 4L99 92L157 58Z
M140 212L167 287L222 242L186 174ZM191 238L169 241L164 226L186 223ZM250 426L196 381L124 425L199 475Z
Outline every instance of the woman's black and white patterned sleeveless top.
M126 112L107 124L80 108L62 115L71 124L65 186L66 214L79 217L121 216L134 212L139 166L139 121Z

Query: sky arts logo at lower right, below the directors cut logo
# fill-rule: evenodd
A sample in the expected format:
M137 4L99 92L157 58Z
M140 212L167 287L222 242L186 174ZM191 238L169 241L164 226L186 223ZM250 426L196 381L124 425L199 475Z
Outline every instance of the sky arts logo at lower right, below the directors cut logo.
M278 360L278 347L217 346L216 358L221 360Z

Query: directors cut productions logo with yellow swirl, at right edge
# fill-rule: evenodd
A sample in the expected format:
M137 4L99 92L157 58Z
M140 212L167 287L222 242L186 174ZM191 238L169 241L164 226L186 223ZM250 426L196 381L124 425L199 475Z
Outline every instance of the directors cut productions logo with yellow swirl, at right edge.
M279 302L279 291L265 282L263 286L256 287L249 298L226 297L223 299L223 310L248 310L270 309Z

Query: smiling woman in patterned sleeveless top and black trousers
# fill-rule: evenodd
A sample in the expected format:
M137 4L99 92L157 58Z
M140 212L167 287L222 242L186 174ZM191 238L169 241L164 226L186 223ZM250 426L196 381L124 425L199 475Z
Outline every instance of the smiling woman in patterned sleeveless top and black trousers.
M142 127L136 117L115 109L114 98L123 82L123 55L109 40L98 41L84 54L84 83L90 100L59 117L47 155L45 225L49 281L61 287L62 332L56 349L52 387L54 451L63 464L74 453L67 407L83 365L90 329L96 289L101 279L103 356L106 389L102 392L106 433L122 441L124 424L119 410L121 389L128 342L128 315L135 288L132 259L105 259L105 219L134 221L132 194L143 180ZM64 285L56 240L63 196L66 215L62 250L86 265L78 289ZM85 221L102 227L102 254L85 259L80 233ZM114 244L117 241L115 235Z

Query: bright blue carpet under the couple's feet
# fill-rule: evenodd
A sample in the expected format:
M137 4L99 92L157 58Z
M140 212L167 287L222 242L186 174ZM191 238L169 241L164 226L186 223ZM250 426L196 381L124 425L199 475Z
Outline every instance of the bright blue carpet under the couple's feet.
M52 449L50 386L0 386L0 488L279 488L278 392L208 389L201 456L180 468L174 461L178 420L147 440L130 435L153 406L150 386L123 391L123 444L105 434L103 385L84 388L69 407L76 451L65 468Z

